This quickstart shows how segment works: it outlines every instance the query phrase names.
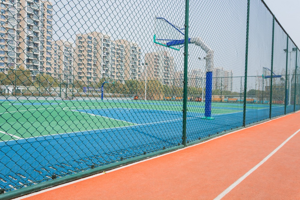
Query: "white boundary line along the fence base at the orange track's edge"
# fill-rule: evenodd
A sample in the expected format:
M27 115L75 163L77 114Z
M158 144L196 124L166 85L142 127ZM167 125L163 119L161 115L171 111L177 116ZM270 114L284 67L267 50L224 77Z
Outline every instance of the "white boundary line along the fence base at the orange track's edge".
M300 112L300 111L297 111L297 112L295 112L295 113L298 113L298 112ZM94 177L97 177L97 176L101 176L101 175L104 175L104 174L107 174L107 173L110 173L110 172L113 172L113 171L117 171L117 170L119 170L119 169L123 169L123 168L129 167L129 166L133 166L133 165L136 165L136 164L138 164L138 163L146 162L146 161L148 161L148 160L152 160L152 159L155 159L155 158L158 158L158 157L162 157L162 156L165 156L165 155L168 155L168 154L173 154L173 153L175 153L175 152L177 152L177 151L182 151L182 150L187 149L187 148L191 148L191 147L194 147L194 146L197 146L197 145L201 145L201 144L204 144L204 143L206 143L206 142L210 142L210 141L212 141L212 140L215 140L215 139L218 139L218 138L221 138L221 137L230 135L230 134L232 134L232 133L235 133L235 132L238 132L238 131L242 131L242 130L245 130L245 129L248 129L248 128L251 128L251 127L255 127L255 126L260 125L260 124L265 124L265 123L268 123L268 122L270 122L270 121L277 120L277 119L279 119L279 118L286 117L286 116L291 115L291 114L294 114L294 113L289 113L289 114L287 114L287 115L283 115L283 116L278 117L278 118L275 118L275 119L271 119L271 120L268 120L268 121L265 121L265 122L262 122L262 123L259 123L259 124L255 124L255 125L250 126L250 127L246 127L246 128L240 129L240 130L232 131L232 132L230 132L230 133L226 133L226 134L224 134L224 135L221 135L221 136L218 136L218 137L215 137L215 138L206 140L206 141L204 141L204 142L197 143L197 144L195 144L195 145L188 146L188 147L186 147L186 148L178 149L178 150L176 150L176 151L172 151L172 152L169 152L169 153L166 153L166 154L161 154L161 155L158 155L158 156L155 156L155 157L151 157L151 158L148 158L148 159L145 159L145 160L141 160L141 161L138 161L138 162L135 162L135 163L131 163L131 164L128 164L128 165L125 165L125 166L122 166L122 167L118 167L118 168L115 168L115 169L111 169L111 170L109 170L109 171L107 171L107 172L105 172L105 173L99 172L98 174L91 175L91 176L88 176L88 177L85 177L85 178L80 178L80 179L78 179L78 180L76 180L76 181L71 181L71 182L69 182L69 183L61 184L61 185L58 185L58 186L54 186L54 187L47 188L47 189L45 189L45 190L41 190L41 191L38 191L38 192L35 192L35 193L31 193L31 194L28 194L28 195L25 195L25 196L21 196L21 197L18 197L18 198L16 198L16 199L14 199L14 200L25 199L25 198L28 198L28 197L31 197L31 196L35 196L35 195L44 193L44 192L48 192L48 191L51 191L51 190L55 190L55 189L60 188L60 187L64 187L64 186L67 186L67 185L71 185L71 184L74 184L74 183L78 183L78 182L80 182L80 181L84 181L84 180L87 180L87 179L90 179L90 178L94 178Z

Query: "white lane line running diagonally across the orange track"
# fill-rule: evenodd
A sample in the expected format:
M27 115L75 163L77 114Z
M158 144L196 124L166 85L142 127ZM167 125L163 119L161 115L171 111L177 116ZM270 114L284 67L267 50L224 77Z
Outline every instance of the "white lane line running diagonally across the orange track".
M276 149L274 149L274 151L272 151L267 157L262 159L262 161L260 161L256 166L254 166L246 174L241 176L241 178L239 178L237 181L235 181L233 184L231 184L229 187L227 187L222 193L220 193L216 198L214 198L214 200L222 199L227 193L229 193L233 188L235 188L235 186L240 184L245 178L247 178L247 176L249 176L252 172L254 172L263 163L265 163L265 161L267 161L272 155L274 155L281 147L283 147L283 145L286 144L286 142L288 142L292 137L294 137L299 131L300 131L300 129L297 130L295 133L293 133L291 136L289 136L288 139L286 139L284 142L282 142L281 145L279 145Z

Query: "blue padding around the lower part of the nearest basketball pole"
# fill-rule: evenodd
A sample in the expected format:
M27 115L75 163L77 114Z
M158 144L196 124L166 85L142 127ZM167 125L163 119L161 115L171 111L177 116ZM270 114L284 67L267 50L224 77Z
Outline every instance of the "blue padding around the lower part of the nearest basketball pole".
M205 115L202 119L212 120L211 117L212 72L206 72L205 84Z

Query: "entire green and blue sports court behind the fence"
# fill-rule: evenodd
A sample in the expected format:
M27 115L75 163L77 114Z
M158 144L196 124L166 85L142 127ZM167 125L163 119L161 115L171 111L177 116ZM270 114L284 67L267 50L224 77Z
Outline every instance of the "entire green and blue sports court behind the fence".
M5 100L1 105L1 188L182 144L182 102ZM204 103L188 102L187 142L242 126L243 104L212 103L211 110L214 120L203 120ZM272 115L283 113L283 105L272 106ZM268 117L269 105L247 104L246 124Z

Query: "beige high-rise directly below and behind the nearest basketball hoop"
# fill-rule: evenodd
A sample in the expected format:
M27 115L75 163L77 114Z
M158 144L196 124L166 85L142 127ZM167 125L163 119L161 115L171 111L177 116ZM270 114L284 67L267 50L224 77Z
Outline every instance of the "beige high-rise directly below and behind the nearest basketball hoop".
M150 52L145 55L147 79L160 80L165 85L174 84L174 58L168 51Z

